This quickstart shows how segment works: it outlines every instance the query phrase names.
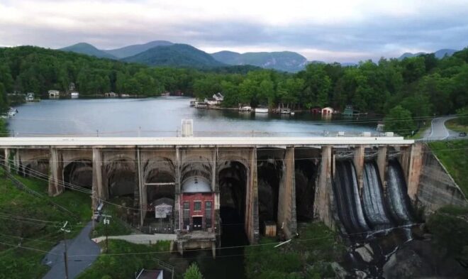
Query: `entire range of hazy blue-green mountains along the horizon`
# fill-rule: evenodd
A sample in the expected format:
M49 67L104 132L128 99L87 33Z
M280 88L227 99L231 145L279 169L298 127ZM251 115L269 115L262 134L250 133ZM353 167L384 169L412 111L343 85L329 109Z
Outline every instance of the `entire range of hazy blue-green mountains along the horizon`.
M139 45L128 45L123 48L111 50L100 50L89 43L77 43L75 45L61 48L60 50L82 53L96 56L97 58L108 58L122 60L125 62L137 62L150 66L172 66L172 67L194 67L207 69L213 67L226 67L230 65L252 65L264 69L274 69L284 72L298 72L303 70L309 63L320 63L321 61L308 61L303 55L291 51L282 52L259 52L259 53L235 53L223 50L218 53L206 53L194 46L172 43L167 40L153 40L149 43ZM442 49L436 51L436 58L452 55L457 50ZM398 59L411 58L425 53L403 53ZM355 62L341 63L343 67L357 65Z

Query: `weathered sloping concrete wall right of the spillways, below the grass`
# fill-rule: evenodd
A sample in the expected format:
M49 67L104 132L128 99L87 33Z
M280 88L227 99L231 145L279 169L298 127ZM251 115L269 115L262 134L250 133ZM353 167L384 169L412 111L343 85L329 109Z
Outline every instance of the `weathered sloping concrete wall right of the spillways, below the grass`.
M416 206L423 207L426 215L447 204L468 206L462 190L459 189L438 158L430 151L430 148L426 145L421 145L420 148L422 163L418 191L416 199L414 199Z

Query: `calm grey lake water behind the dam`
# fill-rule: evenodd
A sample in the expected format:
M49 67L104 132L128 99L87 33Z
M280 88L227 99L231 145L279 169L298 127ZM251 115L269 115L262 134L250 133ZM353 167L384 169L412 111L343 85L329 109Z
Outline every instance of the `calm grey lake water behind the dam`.
M45 99L17 106L9 129L14 136L176 136L181 119L194 119L195 136L322 136L323 131L374 131L377 125L351 125L347 120L323 120L309 113L290 116L195 109L189 106L190 100Z

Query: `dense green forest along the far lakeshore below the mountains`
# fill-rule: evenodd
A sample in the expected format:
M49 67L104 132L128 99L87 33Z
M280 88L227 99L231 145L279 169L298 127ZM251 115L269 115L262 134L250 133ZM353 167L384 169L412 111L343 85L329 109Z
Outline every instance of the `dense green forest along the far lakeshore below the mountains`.
M21 46L0 48L0 106L6 93L66 92L74 82L83 96L104 92L158 96L225 96L223 106L287 106L311 109L346 105L377 116L395 114L420 119L453 114L468 104L468 48L445 58L433 54L403 60L362 61L357 66L311 63L297 73L257 67L149 67L60 50Z

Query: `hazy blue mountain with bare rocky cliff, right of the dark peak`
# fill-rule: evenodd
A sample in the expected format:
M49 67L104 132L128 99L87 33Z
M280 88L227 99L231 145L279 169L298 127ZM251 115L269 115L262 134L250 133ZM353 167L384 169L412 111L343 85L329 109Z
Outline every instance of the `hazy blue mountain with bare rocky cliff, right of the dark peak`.
M212 53L216 60L228 65L254 65L266 69L285 72L298 72L307 65L307 59L299 53L291 51L272 53L234 53L223 50Z

